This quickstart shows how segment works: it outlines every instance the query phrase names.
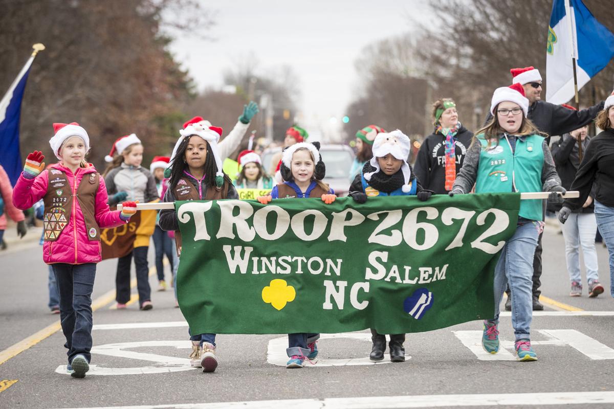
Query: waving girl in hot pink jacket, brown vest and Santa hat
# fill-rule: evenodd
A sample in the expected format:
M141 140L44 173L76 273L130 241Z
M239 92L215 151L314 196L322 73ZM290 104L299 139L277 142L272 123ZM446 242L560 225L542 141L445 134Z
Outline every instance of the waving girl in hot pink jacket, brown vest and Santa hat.
M43 170L40 151L28 155L13 191L15 207L43 199L43 260L53 267L60 294L60 319L68 348L68 370L83 378L91 359L91 291L101 261L100 229L120 226L136 212L134 202L111 212L104 179L85 161L90 138L78 123L53 124L49 141L60 162Z

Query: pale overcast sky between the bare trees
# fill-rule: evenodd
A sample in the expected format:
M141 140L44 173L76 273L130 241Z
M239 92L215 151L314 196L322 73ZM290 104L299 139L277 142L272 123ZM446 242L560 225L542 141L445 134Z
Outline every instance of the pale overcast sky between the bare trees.
M253 53L260 71L282 64L300 80L308 121L340 117L356 91L354 60L366 45L411 31L430 14L418 0L208 0L214 41L175 36L171 51L198 87L222 86L224 69Z

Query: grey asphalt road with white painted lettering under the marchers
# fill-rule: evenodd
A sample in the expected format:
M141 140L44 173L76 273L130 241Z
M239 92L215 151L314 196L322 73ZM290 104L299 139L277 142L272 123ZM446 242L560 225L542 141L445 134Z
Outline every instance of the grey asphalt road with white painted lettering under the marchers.
M76 380L60 373L63 335L53 332L59 326L58 316L47 310L47 270L40 248L31 243L0 253L0 356L10 356L0 364L0 408L216 408L229 402L236 402L233 407L284 408L564 403L580 408L595 402L614 407L614 299L608 291L597 299L569 297L562 236L551 226L544 245L542 288L548 299L546 311L535 314L532 325L538 362L516 362L506 343L508 349L496 356L474 348L481 324L473 322L408 334L411 358L403 364L368 364L367 332L325 335L319 342L320 360L303 370L278 365L286 361L283 335L219 335L220 366L215 373L201 373L188 367L187 326L174 308L173 294L154 292L149 312L136 304L112 310L115 262L106 261L98 266L93 294L99 300L93 332L96 366L84 380ZM607 251L599 245L597 252L602 283L609 289ZM155 275L150 282L155 286ZM45 327L46 332L34 335ZM513 340L509 315L500 328L503 340ZM11 347L28 337L33 345L12 356ZM489 360L493 357L500 360Z

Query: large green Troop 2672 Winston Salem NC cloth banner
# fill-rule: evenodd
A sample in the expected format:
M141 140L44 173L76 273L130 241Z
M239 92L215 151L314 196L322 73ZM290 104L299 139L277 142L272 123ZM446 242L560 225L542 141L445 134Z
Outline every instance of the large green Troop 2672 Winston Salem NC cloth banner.
M192 334L440 329L492 318L519 194L176 202Z

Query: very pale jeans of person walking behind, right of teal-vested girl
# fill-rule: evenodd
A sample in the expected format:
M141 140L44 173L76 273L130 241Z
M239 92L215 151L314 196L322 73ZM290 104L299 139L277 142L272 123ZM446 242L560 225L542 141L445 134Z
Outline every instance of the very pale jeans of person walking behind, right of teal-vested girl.
M565 224L561 224L565 239L565 258L569 280L582 282L580 274L580 246L584 256L586 280L589 283L599 280L597 273L597 251L595 250L595 235L597 220L594 213L571 213Z

